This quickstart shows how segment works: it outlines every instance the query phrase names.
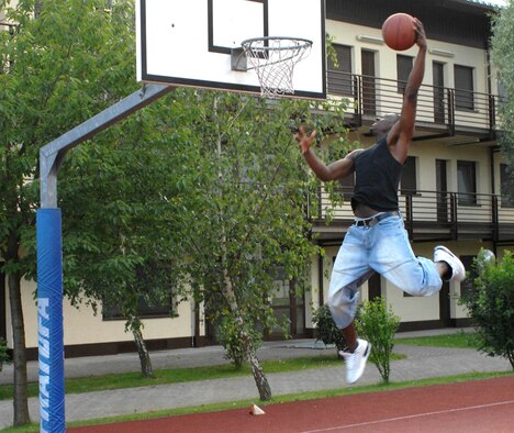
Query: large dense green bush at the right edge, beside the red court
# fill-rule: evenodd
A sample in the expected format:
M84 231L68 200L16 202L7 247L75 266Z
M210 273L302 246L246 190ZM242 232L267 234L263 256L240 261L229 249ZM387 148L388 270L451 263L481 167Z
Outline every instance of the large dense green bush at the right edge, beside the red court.
M489 356L504 356L514 369L514 258L505 252L501 260L481 249L474 260L474 286L461 293L477 327L477 343Z

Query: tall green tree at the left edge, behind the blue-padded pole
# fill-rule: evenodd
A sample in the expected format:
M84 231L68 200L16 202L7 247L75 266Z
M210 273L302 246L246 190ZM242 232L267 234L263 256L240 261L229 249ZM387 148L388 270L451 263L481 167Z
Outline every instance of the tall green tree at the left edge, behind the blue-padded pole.
M33 257L22 251L34 238L38 149L135 90L132 2L118 1L110 13L104 5L0 1L16 23L14 32L0 32L0 254L13 330L14 425L30 422L21 279L35 276Z

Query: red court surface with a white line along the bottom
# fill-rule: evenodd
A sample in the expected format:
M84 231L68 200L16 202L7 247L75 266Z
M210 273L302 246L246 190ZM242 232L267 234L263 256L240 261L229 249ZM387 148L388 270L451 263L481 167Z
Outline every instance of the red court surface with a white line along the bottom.
M72 432L513 432L514 376L69 429Z

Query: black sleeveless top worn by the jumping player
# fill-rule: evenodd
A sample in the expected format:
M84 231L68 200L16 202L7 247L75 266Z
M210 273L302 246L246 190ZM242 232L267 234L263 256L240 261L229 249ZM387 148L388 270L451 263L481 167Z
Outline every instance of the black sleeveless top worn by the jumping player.
M386 137L354 158L355 188L351 209L359 203L377 211L398 211L398 188L403 166L391 155Z

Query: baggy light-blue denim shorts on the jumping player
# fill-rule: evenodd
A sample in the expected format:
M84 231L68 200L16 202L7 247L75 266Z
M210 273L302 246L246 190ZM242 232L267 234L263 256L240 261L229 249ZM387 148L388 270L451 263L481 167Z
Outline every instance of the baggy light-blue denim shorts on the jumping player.
M373 226L351 225L337 253L328 288L328 307L339 329L354 321L360 286L373 273L417 297L435 295L443 286L435 263L414 255L402 216L386 218Z

